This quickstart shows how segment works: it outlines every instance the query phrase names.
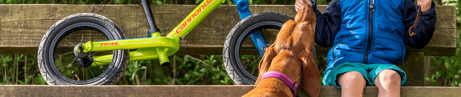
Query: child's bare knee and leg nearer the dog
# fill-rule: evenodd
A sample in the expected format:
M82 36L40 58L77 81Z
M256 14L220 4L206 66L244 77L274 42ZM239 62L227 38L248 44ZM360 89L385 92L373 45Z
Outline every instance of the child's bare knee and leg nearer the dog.
M337 83L341 86L341 97L362 97L366 85L365 78L357 71L340 74Z

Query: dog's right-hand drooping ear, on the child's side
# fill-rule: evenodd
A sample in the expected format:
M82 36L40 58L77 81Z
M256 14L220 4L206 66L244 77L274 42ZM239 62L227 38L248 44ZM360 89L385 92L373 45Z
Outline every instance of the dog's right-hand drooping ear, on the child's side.
M310 97L320 95L320 73L311 52L302 54L302 83L301 87Z

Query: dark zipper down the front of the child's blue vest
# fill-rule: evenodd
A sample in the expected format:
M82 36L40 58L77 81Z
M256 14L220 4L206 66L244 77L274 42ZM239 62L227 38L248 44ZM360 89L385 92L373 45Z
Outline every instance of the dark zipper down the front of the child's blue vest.
M374 9L374 5L373 5L373 0L370 0L370 5L368 6L369 7L369 17L368 17L368 26L369 26L369 31L368 31L368 40L366 42L366 53L365 55L363 56L363 64L366 64L368 65L368 54L370 54L371 52L371 48L372 48L372 41L373 41L373 9Z

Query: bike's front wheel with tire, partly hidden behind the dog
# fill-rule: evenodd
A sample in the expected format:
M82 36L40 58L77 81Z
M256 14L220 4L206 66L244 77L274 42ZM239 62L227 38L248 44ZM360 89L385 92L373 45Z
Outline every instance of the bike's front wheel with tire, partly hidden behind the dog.
M273 43L278 30L290 19L292 19L290 16L277 12L261 12L246 17L232 28L224 44L223 59L226 71L236 85L254 85L259 73L258 64L261 55L258 50L243 49L257 49L248 35L259 30L267 44Z

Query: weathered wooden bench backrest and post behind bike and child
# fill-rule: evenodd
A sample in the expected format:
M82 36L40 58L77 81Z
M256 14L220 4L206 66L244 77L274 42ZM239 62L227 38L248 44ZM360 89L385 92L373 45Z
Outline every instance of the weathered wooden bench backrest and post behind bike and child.
M161 35L165 36L197 5L151 5ZM325 11L326 5L318 5ZM295 15L293 5L251 5L252 13L273 11ZM456 49L455 6L437 5L434 36L425 48L407 47L407 86L423 86L424 56L453 56ZM144 38L148 24L139 5L0 5L0 54L37 54L41 38L55 22L77 13L106 16L127 38ZM180 42L176 55L221 55L225 38L241 19L235 5L219 5ZM317 55L330 48L316 46Z

